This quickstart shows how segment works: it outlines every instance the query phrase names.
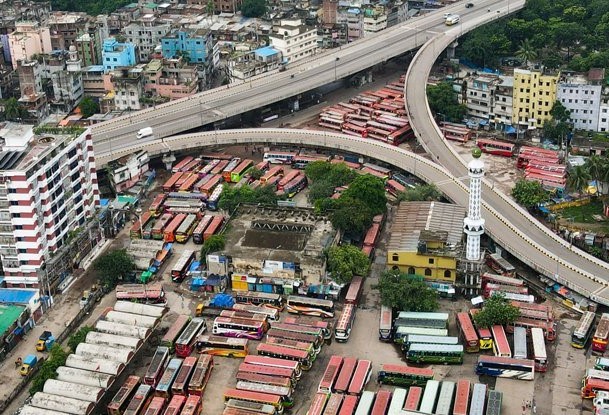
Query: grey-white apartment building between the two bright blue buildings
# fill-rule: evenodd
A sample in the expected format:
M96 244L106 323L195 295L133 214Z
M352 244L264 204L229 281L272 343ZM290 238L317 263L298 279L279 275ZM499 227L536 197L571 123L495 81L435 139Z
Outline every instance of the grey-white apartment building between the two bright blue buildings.
M148 62L150 55L169 33L171 25L161 22L156 16L147 14L123 29L127 42L135 45L137 61Z

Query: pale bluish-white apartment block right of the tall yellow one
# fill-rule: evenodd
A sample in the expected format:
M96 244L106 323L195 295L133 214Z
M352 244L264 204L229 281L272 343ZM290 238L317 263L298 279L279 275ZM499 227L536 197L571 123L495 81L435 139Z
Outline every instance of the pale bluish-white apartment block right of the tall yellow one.
M602 86L591 84L583 74L561 74L557 100L570 113L576 130L598 131Z

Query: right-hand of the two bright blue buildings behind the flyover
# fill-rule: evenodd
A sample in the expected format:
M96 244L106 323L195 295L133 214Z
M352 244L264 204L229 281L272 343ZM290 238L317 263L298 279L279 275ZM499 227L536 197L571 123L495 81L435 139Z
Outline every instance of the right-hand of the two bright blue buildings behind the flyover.
M196 30L192 33L181 30L161 39L163 57L175 58L181 55L189 63L205 63L213 50L213 38L207 30Z

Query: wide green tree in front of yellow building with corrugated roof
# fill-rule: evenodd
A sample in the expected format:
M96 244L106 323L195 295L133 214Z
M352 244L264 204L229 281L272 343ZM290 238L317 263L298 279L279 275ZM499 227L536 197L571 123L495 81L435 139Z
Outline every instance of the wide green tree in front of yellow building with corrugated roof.
M435 311L438 309L437 293L421 278L402 274L398 270L386 271L376 287L381 303L403 311Z

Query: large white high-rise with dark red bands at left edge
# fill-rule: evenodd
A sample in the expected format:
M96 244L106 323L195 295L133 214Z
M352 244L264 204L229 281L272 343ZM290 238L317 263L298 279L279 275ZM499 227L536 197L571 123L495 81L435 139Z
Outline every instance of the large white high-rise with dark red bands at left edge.
M36 136L32 126L12 123L0 135L4 281L9 287L41 287L43 264L94 217L99 204L93 141L88 130Z

